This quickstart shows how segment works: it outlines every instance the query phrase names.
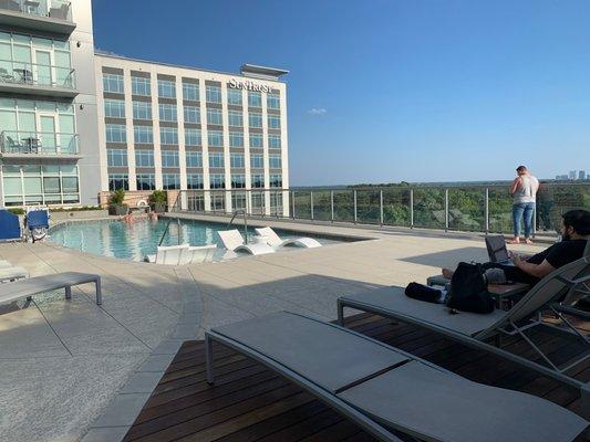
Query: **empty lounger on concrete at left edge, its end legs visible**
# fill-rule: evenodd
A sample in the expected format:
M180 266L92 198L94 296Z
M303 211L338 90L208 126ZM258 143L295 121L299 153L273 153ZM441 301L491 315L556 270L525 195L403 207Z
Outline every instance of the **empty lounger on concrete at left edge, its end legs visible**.
M29 298L40 293L65 288L65 298L72 298L74 285L94 283L96 305L102 304L101 276L91 273L64 272L52 275L35 276L0 285L0 303L9 303L20 298Z

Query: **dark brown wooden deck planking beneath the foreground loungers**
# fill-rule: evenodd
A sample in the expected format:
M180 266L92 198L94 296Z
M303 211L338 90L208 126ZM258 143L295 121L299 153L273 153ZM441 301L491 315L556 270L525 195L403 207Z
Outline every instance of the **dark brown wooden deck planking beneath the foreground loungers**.
M526 391L573 411L579 409L575 389L415 326L368 314L349 318L346 326L474 381ZM532 336L557 358L579 352L577 344L551 334ZM505 343L513 351L532 356L521 340L508 338ZM214 346L214 354L216 385L210 387L206 382L204 343L185 343L125 441L373 441L355 424L261 365L220 345ZM578 370L578 376L590 378L590 362Z

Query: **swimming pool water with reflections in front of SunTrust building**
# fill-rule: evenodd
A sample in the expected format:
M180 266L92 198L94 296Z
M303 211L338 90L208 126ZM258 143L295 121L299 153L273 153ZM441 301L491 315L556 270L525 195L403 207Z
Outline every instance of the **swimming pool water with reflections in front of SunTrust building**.
M127 224L120 220L96 221L69 221L50 229L49 241L102 256L118 257L123 260L143 261L148 254L157 251L157 244L166 230L169 219L158 221L136 220ZM242 231L241 227L237 227ZM227 224L180 220L173 220L162 245L176 245L188 242L190 245L217 244L218 251L214 261L219 261L226 250L221 244L218 230L227 230ZM281 238L308 236L308 234L293 234L292 232L276 230ZM255 233L253 228L248 228L248 234ZM178 242L178 238L180 241ZM320 243L331 244L341 241L314 236ZM292 248L284 248L289 251Z

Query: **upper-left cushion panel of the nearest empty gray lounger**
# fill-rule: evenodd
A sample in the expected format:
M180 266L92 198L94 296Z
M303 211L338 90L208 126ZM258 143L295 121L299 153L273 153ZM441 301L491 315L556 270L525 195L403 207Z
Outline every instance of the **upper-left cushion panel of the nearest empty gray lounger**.
M361 336L284 312L265 316L263 320L255 318L213 330L270 355L332 392L407 360Z

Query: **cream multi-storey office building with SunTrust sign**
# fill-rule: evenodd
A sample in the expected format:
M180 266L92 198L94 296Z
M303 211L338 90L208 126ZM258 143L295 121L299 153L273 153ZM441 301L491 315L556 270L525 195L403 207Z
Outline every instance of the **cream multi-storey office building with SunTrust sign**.
M103 191L194 190L185 208L287 210L287 71L95 61Z

